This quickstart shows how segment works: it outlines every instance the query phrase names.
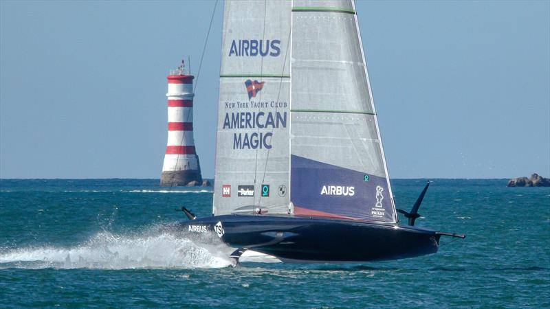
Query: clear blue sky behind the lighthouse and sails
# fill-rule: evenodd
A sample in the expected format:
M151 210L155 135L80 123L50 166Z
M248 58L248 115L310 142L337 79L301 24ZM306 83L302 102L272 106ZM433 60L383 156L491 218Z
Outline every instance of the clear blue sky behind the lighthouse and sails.
M550 176L549 1L358 1L392 178ZM0 177L159 178L213 1L0 1ZM195 95L214 175L221 10Z

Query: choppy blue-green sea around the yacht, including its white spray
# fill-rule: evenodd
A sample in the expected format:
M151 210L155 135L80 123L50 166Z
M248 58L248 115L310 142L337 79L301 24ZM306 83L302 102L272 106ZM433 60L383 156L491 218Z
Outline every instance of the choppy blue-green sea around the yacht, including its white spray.
M162 229L181 205L209 216L212 188L157 183L1 180L0 307L550 308L550 188L435 179L417 225L467 234L438 253L232 268L223 245ZM425 183L394 180L397 206Z

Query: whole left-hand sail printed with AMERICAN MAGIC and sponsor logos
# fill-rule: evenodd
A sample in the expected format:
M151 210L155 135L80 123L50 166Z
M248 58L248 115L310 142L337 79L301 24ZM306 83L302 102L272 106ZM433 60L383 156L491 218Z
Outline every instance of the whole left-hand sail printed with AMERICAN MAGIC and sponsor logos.
M215 215L287 213L290 1L225 1Z

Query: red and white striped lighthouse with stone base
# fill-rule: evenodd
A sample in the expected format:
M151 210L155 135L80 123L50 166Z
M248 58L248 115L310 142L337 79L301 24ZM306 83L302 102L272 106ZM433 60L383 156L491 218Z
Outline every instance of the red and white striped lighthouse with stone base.
M193 78L184 62L168 75L168 141L160 185L201 185L201 166L193 140Z

